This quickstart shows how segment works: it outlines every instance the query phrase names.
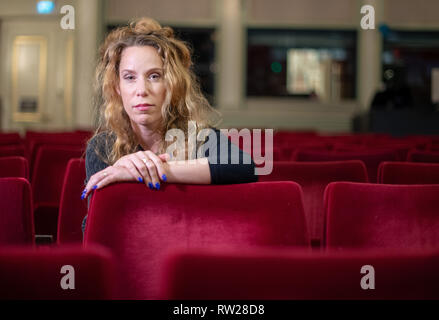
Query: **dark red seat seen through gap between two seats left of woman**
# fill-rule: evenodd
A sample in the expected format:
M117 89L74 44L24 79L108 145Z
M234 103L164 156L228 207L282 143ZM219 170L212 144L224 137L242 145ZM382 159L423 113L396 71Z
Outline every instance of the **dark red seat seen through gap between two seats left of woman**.
M74 146L46 145L39 148L32 178L36 234L51 235L56 239L61 189L67 163L82 154L81 148Z

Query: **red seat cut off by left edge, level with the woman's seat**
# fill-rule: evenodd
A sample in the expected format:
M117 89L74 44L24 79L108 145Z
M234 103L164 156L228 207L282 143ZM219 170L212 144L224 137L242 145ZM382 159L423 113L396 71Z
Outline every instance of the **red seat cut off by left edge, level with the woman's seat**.
M34 220L29 182L0 178L0 246L34 244Z

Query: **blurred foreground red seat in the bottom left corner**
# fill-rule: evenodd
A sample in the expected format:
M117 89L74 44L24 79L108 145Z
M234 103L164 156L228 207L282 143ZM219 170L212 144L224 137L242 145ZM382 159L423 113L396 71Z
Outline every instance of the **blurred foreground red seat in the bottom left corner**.
M115 276L112 256L101 247L0 248L3 300L111 299Z

